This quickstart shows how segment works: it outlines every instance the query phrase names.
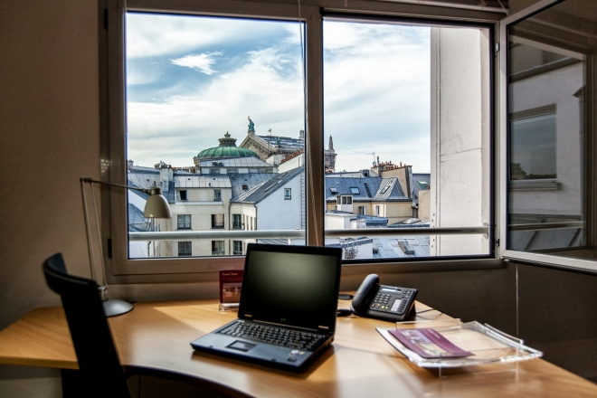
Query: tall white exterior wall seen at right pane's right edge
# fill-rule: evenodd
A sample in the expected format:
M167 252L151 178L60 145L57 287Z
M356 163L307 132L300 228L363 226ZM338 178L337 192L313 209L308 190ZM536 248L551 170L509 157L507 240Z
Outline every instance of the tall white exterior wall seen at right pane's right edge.
M488 38L480 30L431 28L433 227L488 223ZM480 235L431 237L431 255L487 254Z

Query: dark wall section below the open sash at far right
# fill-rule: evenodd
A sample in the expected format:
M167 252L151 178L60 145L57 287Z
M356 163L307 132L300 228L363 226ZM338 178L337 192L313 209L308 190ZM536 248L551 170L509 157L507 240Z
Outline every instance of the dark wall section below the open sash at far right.
M597 275L511 264L518 334L544 359L597 382Z

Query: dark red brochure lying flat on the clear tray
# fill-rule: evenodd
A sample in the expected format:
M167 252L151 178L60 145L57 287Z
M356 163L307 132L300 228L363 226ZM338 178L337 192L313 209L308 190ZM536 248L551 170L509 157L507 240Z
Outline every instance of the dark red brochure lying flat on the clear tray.
M422 358L459 358L474 355L454 346L441 333L431 328L396 329L389 331L404 346Z

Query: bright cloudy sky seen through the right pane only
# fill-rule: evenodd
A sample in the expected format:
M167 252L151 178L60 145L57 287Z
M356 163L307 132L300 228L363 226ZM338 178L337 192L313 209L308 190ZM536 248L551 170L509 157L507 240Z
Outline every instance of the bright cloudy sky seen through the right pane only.
M325 134L336 168L381 161L430 170L430 30L398 24L324 24Z

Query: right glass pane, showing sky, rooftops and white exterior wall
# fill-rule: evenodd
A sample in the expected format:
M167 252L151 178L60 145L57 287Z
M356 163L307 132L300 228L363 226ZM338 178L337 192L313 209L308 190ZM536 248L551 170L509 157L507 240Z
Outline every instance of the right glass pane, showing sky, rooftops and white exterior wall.
M490 254L489 37L324 19L326 244L346 259Z

